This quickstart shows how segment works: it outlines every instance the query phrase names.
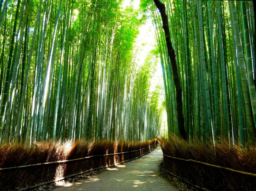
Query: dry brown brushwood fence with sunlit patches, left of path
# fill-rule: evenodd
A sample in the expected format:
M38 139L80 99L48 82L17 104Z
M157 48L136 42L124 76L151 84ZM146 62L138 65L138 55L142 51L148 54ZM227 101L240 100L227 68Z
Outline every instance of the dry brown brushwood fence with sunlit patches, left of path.
M157 140L146 142L128 141L48 141L37 142L31 147L22 144L0 146L0 168L46 163L59 160L70 160L93 155L127 152L157 145ZM152 149L152 148L151 148ZM105 167L129 160L146 153L150 148L141 152L132 152L104 157L93 157L87 160L52 164L48 166L29 167L0 171L0 190L17 190L30 187L42 182L49 182L61 177L87 171L93 168Z

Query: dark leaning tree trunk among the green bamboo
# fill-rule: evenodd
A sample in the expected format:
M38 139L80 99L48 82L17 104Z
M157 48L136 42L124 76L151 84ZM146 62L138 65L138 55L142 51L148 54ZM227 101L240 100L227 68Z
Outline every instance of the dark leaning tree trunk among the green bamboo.
M183 111L182 111L182 89L181 89L179 75L178 75L175 51L173 49L172 42L170 39L169 24L168 24L168 18L167 18L166 12L165 12L165 5L163 3L161 3L159 0L154 0L154 3L157 6L157 8L159 9L159 12L162 17L163 30L165 31L165 40L166 40L166 45L167 45L167 51L169 54L171 65L172 65L173 79L174 79L174 84L175 84L175 88L176 88L178 128L179 128L181 137L184 138L184 140L187 140L187 133L186 133L185 127L184 127L184 115L183 115Z

